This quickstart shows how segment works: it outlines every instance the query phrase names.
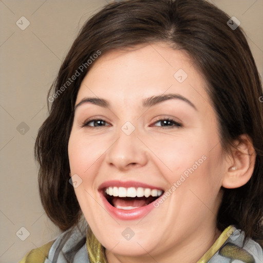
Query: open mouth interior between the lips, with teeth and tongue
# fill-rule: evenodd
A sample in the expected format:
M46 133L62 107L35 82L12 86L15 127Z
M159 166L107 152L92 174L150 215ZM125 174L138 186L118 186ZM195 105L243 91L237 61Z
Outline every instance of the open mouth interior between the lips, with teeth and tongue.
M103 195L117 209L132 210L146 206L158 199L164 191L143 187L105 187Z

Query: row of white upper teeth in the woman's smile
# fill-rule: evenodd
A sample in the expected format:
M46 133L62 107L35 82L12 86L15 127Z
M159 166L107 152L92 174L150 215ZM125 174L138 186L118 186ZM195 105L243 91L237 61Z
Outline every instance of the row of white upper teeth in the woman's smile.
M160 196L162 194L162 190L157 189L149 189L149 188L143 188L138 187L137 189L135 187L107 187L105 191L108 195L111 196L118 196L118 197L149 197L151 196Z

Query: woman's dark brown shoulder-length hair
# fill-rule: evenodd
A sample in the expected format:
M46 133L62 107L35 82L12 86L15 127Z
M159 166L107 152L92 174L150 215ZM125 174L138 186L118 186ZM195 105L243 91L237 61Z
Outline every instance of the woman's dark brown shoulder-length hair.
M204 0L128 0L106 5L82 27L69 50L48 97L61 90L76 70L98 50L167 42L189 53L208 84L225 152L233 140L247 134L253 141L256 163L252 178L237 189L224 189L217 216L221 231L235 224L246 237L262 234L263 216L263 104L259 74L240 27ZM96 63L96 62L93 62ZM92 66L53 99L49 116L35 142L40 163L39 189L48 217L62 230L78 223L81 209L69 183L68 140L73 108L81 82ZM53 97L54 98L54 97Z

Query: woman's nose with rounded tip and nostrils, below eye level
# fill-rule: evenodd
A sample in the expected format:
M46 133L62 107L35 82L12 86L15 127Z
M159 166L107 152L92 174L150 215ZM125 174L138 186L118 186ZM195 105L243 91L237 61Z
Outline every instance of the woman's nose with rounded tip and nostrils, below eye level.
M130 167L140 167L147 163L147 147L142 140L137 137L137 129L131 133L125 133L124 129L119 129L115 142L106 152L105 160L111 166L115 166L120 171L127 171Z

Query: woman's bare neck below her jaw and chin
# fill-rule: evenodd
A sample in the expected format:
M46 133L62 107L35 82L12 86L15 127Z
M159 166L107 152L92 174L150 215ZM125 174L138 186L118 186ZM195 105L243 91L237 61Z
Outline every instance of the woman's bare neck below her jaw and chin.
M164 248L161 253L155 251L147 252L143 256L117 255L106 249L108 263L171 263L197 262L206 251L213 245L221 232L215 226L208 228L197 228L191 236L180 242L177 246Z

